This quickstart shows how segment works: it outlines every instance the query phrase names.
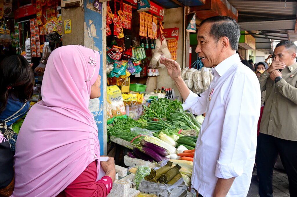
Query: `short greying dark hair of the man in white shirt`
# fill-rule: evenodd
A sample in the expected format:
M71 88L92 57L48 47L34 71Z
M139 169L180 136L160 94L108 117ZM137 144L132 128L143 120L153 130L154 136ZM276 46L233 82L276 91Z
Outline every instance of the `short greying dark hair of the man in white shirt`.
M239 25L233 18L228 16L215 16L203 20L200 26L204 23L212 23L209 34L216 40L226 36L229 39L231 49L238 49L240 37Z

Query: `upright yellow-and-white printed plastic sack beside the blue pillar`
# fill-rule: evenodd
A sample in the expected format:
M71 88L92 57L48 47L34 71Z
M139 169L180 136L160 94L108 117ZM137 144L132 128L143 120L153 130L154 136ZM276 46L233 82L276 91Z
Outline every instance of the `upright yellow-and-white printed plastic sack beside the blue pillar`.
M118 86L112 85L107 87L107 101L113 117L126 116L122 93Z

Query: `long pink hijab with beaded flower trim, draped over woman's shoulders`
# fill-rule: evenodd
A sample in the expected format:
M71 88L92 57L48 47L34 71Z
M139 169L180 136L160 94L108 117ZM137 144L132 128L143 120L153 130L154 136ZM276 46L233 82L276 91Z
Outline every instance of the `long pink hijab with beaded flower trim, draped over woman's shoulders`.
M56 196L99 161L98 128L88 109L99 62L98 51L83 46L50 54L42 101L30 109L18 135L12 196ZM98 174L99 168L98 162Z

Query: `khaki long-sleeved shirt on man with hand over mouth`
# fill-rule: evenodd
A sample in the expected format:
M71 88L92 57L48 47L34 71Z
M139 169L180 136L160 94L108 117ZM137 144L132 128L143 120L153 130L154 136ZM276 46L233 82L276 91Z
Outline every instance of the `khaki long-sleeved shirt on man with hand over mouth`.
M267 70L259 77L261 92L266 90L260 133L297 141L297 63L282 70L274 83Z

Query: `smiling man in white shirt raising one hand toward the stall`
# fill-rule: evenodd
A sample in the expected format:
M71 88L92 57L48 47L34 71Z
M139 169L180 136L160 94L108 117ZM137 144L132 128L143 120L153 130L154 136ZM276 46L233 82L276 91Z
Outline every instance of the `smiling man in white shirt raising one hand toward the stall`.
M180 65L162 58L193 114L206 113L196 143L192 186L199 196L247 196L255 163L260 85L255 73L240 62L236 50L239 25L230 17L200 23L196 52L214 78L200 97L181 79Z

